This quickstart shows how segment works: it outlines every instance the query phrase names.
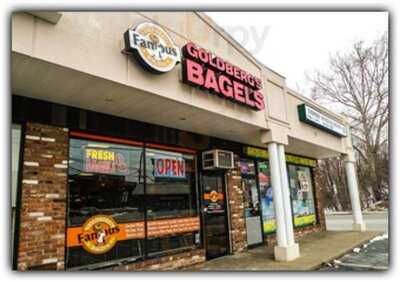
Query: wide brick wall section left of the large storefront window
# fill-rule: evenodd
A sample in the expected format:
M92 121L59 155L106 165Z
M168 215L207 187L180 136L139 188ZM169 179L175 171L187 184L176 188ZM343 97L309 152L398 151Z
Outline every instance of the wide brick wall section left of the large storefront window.
M27 123L18 270L64 269L68 131Z

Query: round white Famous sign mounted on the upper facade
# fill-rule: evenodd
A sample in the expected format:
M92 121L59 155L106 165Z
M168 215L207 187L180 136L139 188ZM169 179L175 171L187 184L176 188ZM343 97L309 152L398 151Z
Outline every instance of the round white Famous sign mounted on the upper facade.
M125 51L132 53L139 63L153 73L165 73L180 62L180 50L160 26L145 22L124 34Z

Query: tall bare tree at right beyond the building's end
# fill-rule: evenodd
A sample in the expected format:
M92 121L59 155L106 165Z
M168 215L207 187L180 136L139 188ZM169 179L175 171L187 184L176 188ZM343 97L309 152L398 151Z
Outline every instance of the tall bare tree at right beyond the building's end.
M347 52L336 53L326 71L309 76L312 98L350 122L365 201L381 201L388 194L388 57L386 32L371 44L356 42Z

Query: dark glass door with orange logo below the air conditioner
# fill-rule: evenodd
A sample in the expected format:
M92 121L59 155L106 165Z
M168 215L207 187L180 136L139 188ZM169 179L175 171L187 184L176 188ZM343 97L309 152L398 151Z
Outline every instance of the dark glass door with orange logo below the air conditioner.
M206 257L224 256L229 252L224 173L204 172L201 194Z

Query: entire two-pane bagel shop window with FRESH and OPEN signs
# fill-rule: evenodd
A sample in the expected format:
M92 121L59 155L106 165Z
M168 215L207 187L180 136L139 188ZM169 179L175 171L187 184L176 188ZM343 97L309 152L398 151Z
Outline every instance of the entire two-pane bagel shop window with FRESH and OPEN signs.
M194 155L70 139L68 171L67 267L199 242Z

